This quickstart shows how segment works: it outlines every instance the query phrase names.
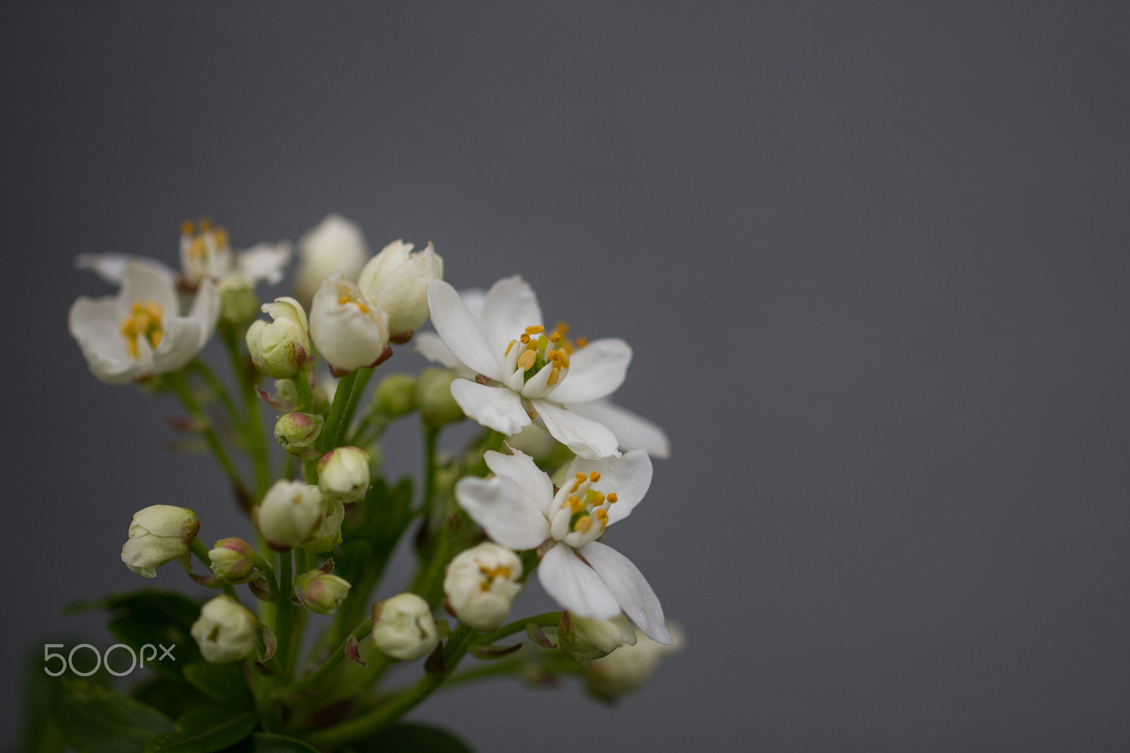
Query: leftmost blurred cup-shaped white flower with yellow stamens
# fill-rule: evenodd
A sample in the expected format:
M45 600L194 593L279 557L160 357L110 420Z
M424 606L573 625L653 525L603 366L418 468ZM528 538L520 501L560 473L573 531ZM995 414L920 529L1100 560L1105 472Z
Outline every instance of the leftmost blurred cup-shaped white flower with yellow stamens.
M68 327L95 376L107 384L176 371L208 341L219 317L216 285L206 280L186 317L173 284L153 269L127 263L118 295L80 296Z

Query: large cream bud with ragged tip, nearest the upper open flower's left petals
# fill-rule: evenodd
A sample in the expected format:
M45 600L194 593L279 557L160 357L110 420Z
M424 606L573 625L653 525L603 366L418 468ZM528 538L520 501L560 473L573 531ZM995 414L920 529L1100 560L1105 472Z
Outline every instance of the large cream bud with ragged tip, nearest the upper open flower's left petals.
M427 284L443 279L443 259L432 244L411 253L412 244L393 241L368 260L357 286L389 313L389 331L407 335L427 321Z

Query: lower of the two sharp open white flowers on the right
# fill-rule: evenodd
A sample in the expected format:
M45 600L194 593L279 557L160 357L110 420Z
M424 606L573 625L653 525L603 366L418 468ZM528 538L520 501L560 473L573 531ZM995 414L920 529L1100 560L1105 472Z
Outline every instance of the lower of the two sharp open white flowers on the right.
M549 476L522 452L492 451L484 459L495 476L459 479L455 499L487 536L512 549L538 547L542 553L538 580L571 613L611 620L623 609L643 632L670 642L663 609L643 574L597 540L647 492L646 452L633 450L606 460L577 458L556 494Z

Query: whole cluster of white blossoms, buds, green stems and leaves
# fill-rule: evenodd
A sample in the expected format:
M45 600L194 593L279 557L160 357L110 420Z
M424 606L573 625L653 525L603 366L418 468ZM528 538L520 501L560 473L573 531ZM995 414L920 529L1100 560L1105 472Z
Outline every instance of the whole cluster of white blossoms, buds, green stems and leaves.
M180 398L174 427L215 456L249 525L201 539L209 511L174 490L133 514L125 566L149 579L176 562L214 595L78 605L107 612L118 643L47 646L35 750L468 750L401 718L436 690L507 675L576 676L612 701L677 646L643 574L600 540L668 452L658 426L608 400L628 345L547 327L518 276L457 291L431 244L370 258L336 215L298 246L293 296L262 304L255 288L282 280L290 245L234 251L208 220L184 224L179 269L79 257L118 286L70 310L90 371ZM201 356L214 335L228 376ZM398 348L436 366L389 373ZM382 436L406 418L423 435L418 484L381 473ZM467 419L471 441L442 449ZM389 585L401 545L415 575ZM534 574L560 611L515 620ZM115 689L138 661L144 682ZM390 673L398 663L411 666Z

